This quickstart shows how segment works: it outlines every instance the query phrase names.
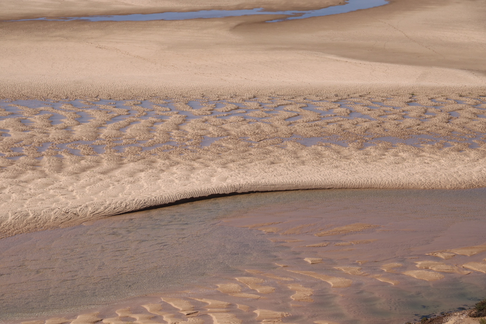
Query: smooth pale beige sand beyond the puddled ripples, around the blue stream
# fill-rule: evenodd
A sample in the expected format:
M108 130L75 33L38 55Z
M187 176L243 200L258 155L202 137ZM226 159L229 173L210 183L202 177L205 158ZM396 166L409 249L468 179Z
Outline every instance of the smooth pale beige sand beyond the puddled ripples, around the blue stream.
M0 12L2 18L82 15L88 8L92 14L154 12L161 7L174 9L175 3L62 2L2 1ZM177 3L178 10L187 10L226 7L229 1ZM257 3L261 5L248 1L229 7ZM281 10L316 5L273 3ZM131 99L307 94L323 89L328 93L483 93L484 16L483 1L394 0L382 7L278 24L264 23L273 17L262 16L1 22L0 94Z

